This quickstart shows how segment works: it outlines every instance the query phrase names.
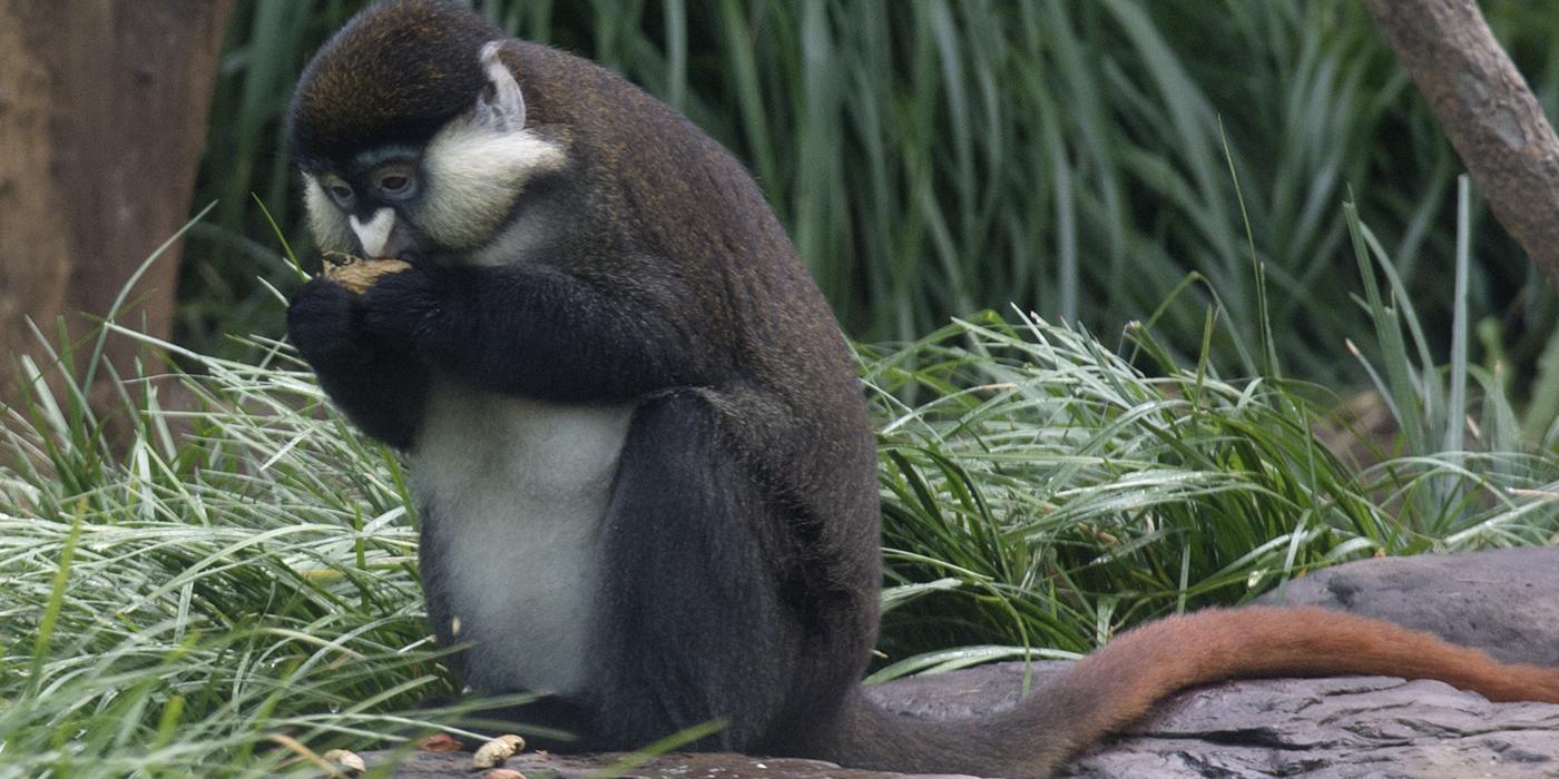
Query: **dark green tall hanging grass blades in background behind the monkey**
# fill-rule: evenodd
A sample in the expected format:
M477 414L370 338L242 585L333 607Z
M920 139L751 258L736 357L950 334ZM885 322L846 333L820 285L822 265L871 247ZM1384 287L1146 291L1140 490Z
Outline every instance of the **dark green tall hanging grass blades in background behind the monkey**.
M301 238L281 111L304 58L359 5L237 3L196 198L221 206L187 254L184 343L221 351L221 333L274 332L253 279L287 271L249 193ZM1342 344L1369 321L1336 282L1355 273L1338 212L1355 185L1431 349L1448 354L1455 246L1431 227L1451 218L1459 164L1355 0L479 5L625 73L736 150L856 338L910 341L1009 302L1112 332L1196 271L1232 324L1214 332L1214 361L1260 354L1243 201L1288 372L1359 380ZM1554 106L1559 6L1484 6ZM1469 321L1531 375L1553 296L1487 215L1472 234ZM1155 333L1194 360L1213 301L1185 294L1196 302Z

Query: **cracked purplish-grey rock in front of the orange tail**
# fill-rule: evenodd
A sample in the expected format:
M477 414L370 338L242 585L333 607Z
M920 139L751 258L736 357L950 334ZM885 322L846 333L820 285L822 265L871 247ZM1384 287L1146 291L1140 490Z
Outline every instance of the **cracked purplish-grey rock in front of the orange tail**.
M1261 679L1179 695L1069 777L1559 776L1559 706L1436 681Z

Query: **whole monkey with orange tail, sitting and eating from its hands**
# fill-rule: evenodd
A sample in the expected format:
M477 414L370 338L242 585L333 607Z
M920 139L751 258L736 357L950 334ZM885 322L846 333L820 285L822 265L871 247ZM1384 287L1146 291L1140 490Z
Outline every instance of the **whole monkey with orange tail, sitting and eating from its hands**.
M741 162L677 111L479 14L396 0L313 55L287 114L323 251L287 332L404 452L438 640L513 721L633 749L1051 776L1185 687L1434 678L1559 703L1559 670L1320 609L1127 631L1016 707L890 714L861 692L881 589L876 452L851 354Z

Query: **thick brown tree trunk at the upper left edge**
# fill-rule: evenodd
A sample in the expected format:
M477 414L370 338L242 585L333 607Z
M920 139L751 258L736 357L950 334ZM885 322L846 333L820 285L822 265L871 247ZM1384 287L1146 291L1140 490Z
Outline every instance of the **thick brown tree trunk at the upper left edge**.
M14 355L42 354L25 318L89 333L80 313L108 315L189 218L231 5L0 0L0 400L16 397ZM120 321L168 337L176 284L175 246ZM137 352L109 341L122 371Z

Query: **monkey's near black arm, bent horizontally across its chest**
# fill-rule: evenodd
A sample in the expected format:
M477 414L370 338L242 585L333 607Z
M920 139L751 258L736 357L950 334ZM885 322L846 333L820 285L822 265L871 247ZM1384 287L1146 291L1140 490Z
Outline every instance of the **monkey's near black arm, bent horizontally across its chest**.
M711 380L692 294L664 277L592 284L550 265L413 268L363 293L365 326L494 393L627 400Z

